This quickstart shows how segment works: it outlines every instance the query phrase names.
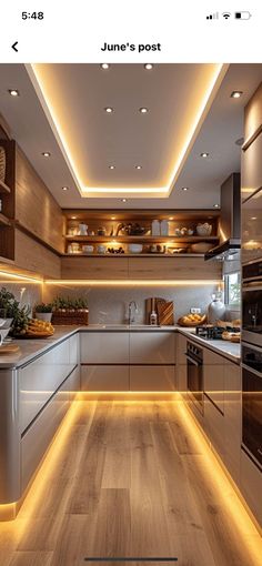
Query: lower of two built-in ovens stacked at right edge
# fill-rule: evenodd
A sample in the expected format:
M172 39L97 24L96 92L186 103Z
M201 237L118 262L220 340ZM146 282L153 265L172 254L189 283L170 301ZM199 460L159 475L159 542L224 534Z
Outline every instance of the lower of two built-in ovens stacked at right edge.
M262 350L242 345L242 448L262 469Z

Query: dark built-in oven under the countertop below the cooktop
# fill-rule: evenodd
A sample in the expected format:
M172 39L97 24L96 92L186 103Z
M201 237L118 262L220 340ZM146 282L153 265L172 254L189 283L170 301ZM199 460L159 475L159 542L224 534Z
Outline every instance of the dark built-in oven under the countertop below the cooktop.
M204 414L203 400L203 350L192 342L187 342L188 394L194 406Z

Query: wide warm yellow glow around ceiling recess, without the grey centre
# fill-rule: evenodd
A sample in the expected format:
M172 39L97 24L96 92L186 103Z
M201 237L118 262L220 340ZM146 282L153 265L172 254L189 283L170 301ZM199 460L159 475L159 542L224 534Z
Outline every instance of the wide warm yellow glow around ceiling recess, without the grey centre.
M66 119L61 109L62 104L59 103L59 89L54 85L56 81L51 80L51 65L27 64L26 67L81 196L102 199L121 196L168 198L170 195L229 65L213 63L201 67L202 79L199 82L196 81L194 97L190 98L190 103L184 101L187 112L184 112L183 124L180 128L179 135L173 135L173 143L170 145L170 162L164 166L162 176L155 181L157 186L151 184L152 181L137 186L130 186L128 183L125 186L117 186L112 180L109 181L108 186L99 186L99 183L97 186L93 181L88 182L87 178L90 172L85 170L87 160L83 162L79 156L78 140L69 130L68 114ZM191 89L189 89L190 94ZM64 101L67 102L67 91L64 92ZM185 107L183 107L183 110ZM111 112L110 120L112 114L115 114L115 112Z

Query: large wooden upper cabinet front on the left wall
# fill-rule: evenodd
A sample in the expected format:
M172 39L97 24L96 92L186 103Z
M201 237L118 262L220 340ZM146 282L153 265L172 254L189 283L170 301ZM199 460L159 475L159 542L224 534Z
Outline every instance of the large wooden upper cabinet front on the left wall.
M63 252L62 211L20 149L16 160L16 219L18 225Z

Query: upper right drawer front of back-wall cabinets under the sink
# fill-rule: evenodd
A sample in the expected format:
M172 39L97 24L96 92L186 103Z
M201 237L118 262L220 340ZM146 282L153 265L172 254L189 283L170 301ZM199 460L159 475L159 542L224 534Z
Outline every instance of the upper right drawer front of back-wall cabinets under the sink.
M131 364L173 364L175 361L174 333L131 332Z

